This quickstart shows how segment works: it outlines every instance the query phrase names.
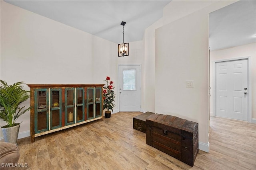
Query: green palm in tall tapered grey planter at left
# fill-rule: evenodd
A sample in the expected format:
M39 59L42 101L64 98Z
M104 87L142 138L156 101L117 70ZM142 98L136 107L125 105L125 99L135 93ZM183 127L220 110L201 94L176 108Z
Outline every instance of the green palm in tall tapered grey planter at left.
M20 123L16 123L16 120L30 110L30 107L20 107L30 97L30 91L23 90L24 82L8 85L0 80L0 85L0 119L6 122L5 126L1 126L4 140L17 145Z

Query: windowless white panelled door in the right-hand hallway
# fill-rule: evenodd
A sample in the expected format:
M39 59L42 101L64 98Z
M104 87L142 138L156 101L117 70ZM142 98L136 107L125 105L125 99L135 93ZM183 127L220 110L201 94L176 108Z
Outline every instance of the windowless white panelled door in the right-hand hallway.
M215 63L215 115L248 121L248 59Z

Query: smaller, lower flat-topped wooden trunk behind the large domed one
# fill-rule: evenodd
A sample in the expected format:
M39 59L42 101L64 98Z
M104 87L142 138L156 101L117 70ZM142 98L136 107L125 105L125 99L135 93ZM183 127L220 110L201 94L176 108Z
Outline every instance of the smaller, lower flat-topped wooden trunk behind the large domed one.
M146 133L146 118L152 115L152 112L146 112L133 118L133 129Z

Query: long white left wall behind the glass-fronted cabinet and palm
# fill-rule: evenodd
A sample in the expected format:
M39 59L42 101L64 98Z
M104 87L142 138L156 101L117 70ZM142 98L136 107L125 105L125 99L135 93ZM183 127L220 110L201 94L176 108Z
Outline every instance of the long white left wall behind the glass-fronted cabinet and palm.
M117 82L116 48L115 43L1 1L0 76L8 84L104 84L106 76ZM29 134L30 113L21 121L20 133Z

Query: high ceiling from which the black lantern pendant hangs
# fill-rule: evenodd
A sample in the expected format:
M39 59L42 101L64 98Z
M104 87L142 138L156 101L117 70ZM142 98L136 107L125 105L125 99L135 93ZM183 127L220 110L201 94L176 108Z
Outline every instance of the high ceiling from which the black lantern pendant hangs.
M114 43L143 39L145 29L163 16L170 0L5 0Z

